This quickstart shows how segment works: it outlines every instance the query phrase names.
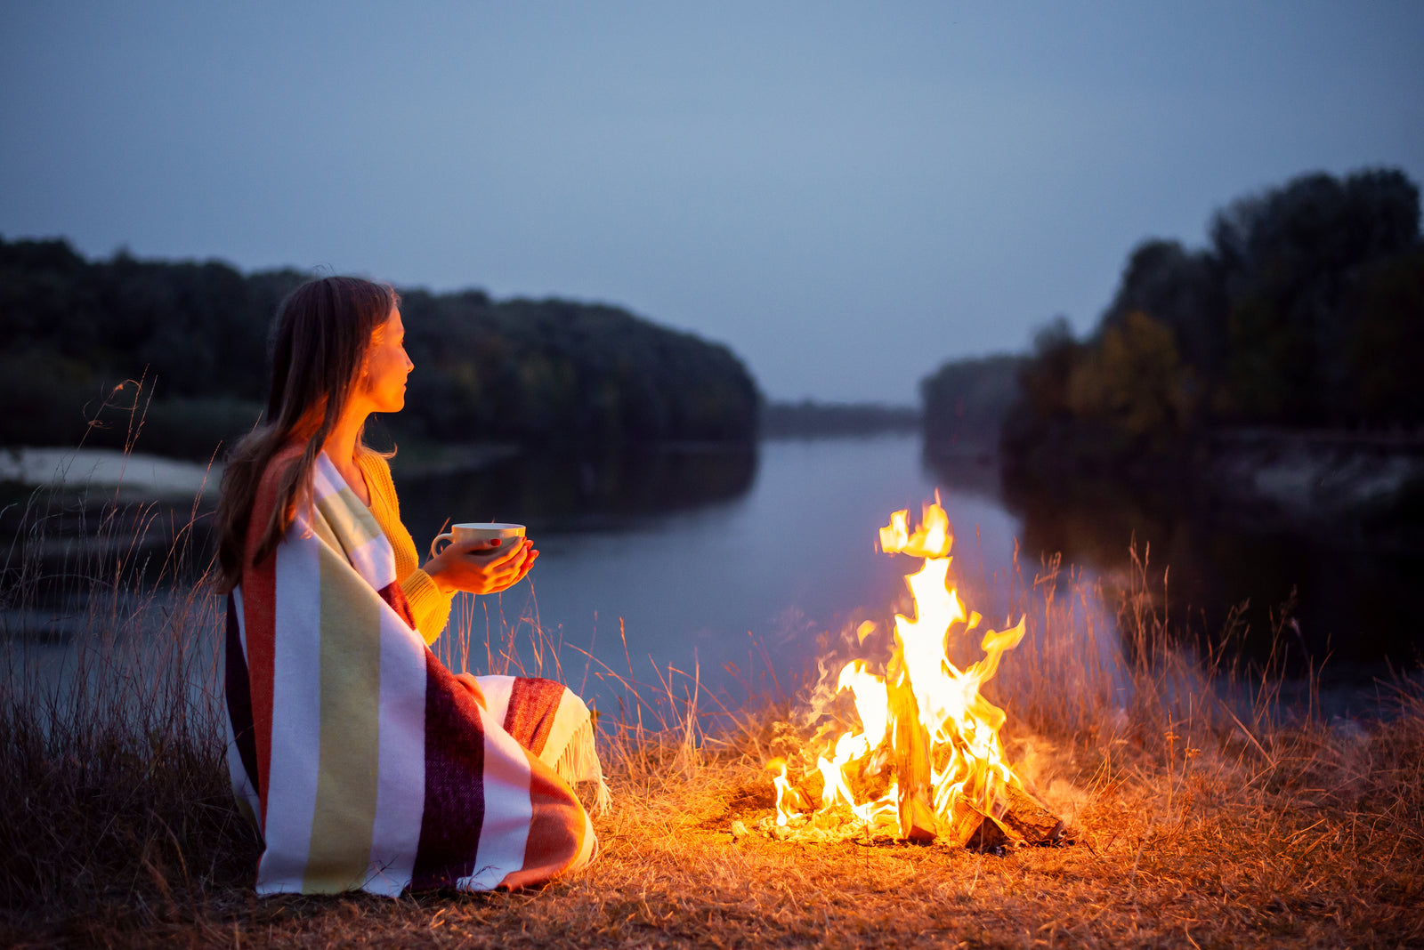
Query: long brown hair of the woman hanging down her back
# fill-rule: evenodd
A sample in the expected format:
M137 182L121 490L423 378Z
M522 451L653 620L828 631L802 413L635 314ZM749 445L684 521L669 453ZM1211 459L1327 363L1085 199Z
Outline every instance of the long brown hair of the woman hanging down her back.
M252 563L266 559L312 492L312 466L356 385L372 334L399 303L389 286L360 277L309 280L288 294L272 326L272 388L265 424L228 458L218 496L219 593L242 580L252 505L268 464L305 441L300 459L282 472L276 505L262 528ZM357 445L360 435L357 435Z

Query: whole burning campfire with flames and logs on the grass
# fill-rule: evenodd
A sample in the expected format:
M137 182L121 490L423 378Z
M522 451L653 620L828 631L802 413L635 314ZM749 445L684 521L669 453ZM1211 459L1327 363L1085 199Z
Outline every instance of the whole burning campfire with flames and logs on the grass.
M906 577L914 616L894 617L883 664L853 660L834 693L854 698L859 730L822 730L795 758L806 768L775 772L776 813L760 829L783 840L901 839L977 849L1059 843L1064 825L1025 788L1004 757L1005 714L980 687L1024 637L1024 619L991 630L951 586L954 535L938 501L914 533L899 511L880 529L880 550L923 559ZM859 641L876 630L863 623ZM978 637L983 658L958 668L954 639ZM815 759L815 765L810 762Z

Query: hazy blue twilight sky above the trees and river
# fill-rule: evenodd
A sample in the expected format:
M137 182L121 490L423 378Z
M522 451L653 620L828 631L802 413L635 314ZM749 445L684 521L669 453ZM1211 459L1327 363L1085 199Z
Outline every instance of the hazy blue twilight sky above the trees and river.
M1307 171L1424 182L1424 3L0 3L0 235L618 303L772 398L1089 329Z

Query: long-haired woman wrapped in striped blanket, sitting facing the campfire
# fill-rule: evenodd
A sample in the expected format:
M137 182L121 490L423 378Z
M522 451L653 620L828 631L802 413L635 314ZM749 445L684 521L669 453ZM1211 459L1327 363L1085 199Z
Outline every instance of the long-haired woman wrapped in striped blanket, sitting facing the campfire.
M263 836L258 890L538 883L597 840L570 782L597 781L588 710L548 680L453 676L427 643L457 590L518 583L527 539L419 566L386 459L413 364L396 293L325 277L282 303L268 424L234 449L218 505L229 755Z

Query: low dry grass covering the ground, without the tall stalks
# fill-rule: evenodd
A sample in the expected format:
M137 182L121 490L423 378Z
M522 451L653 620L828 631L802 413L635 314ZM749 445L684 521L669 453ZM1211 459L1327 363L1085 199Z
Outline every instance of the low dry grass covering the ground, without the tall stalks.
M97 904L13 913L21 946L1408 946L1418 906L1424 717L1367 737L1274 735L1109 759L1054 745L1048 798L1081 843L1007 858L940 848L799 846L735 816L770 805L732 751L689 781L615 781L587 873L543 890L386 900L256 899L241 862L182 876L135 848ZM1077 761L1075 761L1077 759ZM656 762L649 762L655 765ZM191 811L191 809L189 809ZM195 842L211 853L212 842ZM251 850L248 852L251 856ZM14 910L14 909L13 909Z

